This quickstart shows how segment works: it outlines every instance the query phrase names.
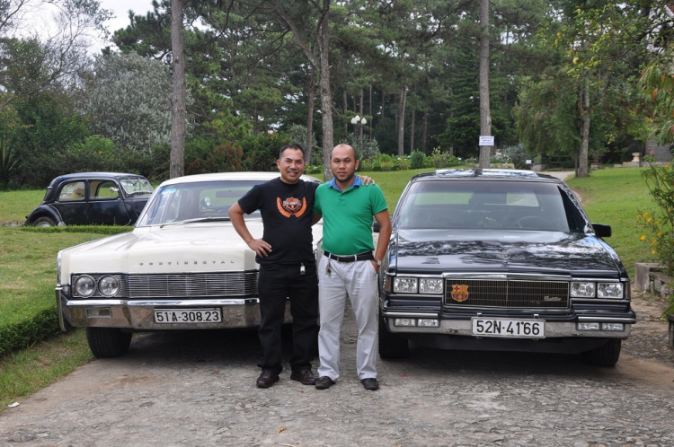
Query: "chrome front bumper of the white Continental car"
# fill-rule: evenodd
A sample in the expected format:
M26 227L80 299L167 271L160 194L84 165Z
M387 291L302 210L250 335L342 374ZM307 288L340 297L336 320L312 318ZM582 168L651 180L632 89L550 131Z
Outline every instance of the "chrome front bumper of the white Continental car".
M122 328L136 330L170 329L234 329L260 326L257 298L198 300L72 300L56 288L58 322L61 330L71 327ZM155 309L219 308L219 323L155 323ZM108 311L109 310L109 311ZM104 311L104 312L102 312ZM110 316L101 316L102 313ZM290 304L286 303L284 322L292 321Z

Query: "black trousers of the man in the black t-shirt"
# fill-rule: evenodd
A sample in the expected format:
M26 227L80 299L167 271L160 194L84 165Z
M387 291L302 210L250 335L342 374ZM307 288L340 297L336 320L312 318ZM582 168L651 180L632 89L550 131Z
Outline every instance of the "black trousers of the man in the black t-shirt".
M304 274L301 266L304 265ZM260 265L258 280L262 321L258 336L262 345L262 369L280 373L281 324L286 301L293 317L292 371L311 368L318 346L318 276L315 262Z

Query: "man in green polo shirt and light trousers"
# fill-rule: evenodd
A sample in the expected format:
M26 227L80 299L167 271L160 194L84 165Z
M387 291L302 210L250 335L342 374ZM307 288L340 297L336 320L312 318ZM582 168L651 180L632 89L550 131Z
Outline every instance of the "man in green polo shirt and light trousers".
M315 192L315 220L323 215L324 257L318 264L321 366L315 387L325 390L340 375L340 330L347 297L359 327L356 348L358 376L366 390L377 390L377 273L391 237L384 194L377 185L362 185L356 170L358 153L350 145L333 148L334 178ZM372 218L379 223L377 250Z

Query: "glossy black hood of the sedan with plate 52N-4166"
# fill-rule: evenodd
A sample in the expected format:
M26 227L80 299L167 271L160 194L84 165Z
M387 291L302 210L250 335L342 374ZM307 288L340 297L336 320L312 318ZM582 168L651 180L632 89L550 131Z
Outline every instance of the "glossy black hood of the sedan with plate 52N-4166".
M392 238L389 256L398 273L626 275L607 243L581 233L405 230Z

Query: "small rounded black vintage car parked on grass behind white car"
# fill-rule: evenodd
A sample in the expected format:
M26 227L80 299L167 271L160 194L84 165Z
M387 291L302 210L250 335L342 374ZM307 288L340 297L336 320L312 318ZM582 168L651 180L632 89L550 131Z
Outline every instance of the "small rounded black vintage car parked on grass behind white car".
M81 172L51 180L26 225L132 225L152 194L141 175Z

